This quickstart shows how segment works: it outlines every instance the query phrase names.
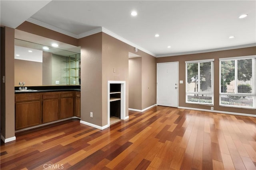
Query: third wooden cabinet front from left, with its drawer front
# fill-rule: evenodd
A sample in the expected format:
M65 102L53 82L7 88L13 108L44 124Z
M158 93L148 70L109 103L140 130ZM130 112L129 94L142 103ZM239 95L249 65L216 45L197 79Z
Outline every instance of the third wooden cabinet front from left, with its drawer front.
M73 92L60 94L60 119L72 117L74 112Z

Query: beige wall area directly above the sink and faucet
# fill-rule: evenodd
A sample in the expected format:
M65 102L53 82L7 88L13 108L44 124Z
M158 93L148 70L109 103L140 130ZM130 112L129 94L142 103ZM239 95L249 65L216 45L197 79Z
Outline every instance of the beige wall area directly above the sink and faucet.
M25 82L29 86L42 86L42 63L14 59L14 84Z

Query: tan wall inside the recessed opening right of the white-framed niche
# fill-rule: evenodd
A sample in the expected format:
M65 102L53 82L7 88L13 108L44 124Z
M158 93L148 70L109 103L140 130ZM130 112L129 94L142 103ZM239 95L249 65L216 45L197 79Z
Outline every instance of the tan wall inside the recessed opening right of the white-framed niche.
M129 59L129 108L142 109L142 57Z

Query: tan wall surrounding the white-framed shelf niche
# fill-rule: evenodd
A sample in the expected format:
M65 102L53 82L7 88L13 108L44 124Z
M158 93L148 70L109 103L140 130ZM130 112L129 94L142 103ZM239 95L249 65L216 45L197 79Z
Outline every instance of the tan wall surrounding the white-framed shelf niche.
M102 125L108 122L108 80L126 82L126 116L128 116L128 48L127 44L102 33ZM115 68L115 73L113 72Z

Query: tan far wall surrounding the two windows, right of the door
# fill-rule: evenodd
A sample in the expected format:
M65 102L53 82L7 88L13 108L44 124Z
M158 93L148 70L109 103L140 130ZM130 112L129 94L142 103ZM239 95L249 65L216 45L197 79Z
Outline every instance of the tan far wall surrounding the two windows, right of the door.
M214 59L214 110L228 111L234 113L248 113L256 115L256 109L243 109L234 107L221 107L219 106L219 58L226 57L239 57L256 55L256 47L248 47L241 49L232 49L224 51L216 51L210 53L199 53L191 55L179 55L172 57L160 57L156 59L157 63L166 62L179 62L179 80L183 80L183 84L179 84L179 106L180 107L192 107L199 109L210 109L211 106L199 105L199 104L186 104L186 68L185 61Z

